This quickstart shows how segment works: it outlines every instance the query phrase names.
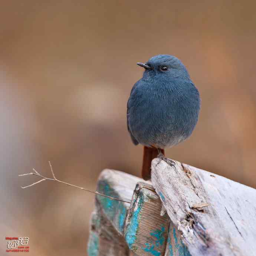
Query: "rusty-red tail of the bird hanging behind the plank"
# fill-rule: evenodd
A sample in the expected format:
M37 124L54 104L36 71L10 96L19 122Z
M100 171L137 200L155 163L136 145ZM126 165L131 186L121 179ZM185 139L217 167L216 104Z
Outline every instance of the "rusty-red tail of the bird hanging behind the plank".
M160 149L164 154L164 150ZM151 178L151 161L158 155L157 148L149 148L144 146L143 150L143 163L142 163L142 178L150 180Z

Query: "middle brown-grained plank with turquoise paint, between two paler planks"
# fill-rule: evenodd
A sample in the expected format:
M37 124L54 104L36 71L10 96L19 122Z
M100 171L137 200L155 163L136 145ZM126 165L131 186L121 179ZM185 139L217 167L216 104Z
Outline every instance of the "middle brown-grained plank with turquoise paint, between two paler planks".
M140 182L136 185L125 224L125 240L137 256L163 256L170 219L160 216L161 200L154 188Z

